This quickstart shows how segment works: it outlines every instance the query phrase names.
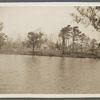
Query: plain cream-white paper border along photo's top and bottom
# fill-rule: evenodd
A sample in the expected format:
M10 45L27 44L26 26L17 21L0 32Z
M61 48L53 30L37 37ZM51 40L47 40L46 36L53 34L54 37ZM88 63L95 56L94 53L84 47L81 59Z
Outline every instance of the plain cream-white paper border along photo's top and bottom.
M76 1L76 0L75 0ZM1 1L0 1L1 2ZM4 1L5 2L5 1ZM8 2L8 1L7 1ZM14 1L16 2L16 1ZM16 2L0 6L100 6L100 2ZM44 5L43 5L44 4ZM0 98L99 98L100 94L0 94Z

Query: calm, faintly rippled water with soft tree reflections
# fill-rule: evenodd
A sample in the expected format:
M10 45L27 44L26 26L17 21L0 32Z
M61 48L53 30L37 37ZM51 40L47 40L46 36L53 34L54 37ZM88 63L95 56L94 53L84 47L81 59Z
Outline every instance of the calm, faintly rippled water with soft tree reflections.
M100 59L0 55L0 93L100 93Z

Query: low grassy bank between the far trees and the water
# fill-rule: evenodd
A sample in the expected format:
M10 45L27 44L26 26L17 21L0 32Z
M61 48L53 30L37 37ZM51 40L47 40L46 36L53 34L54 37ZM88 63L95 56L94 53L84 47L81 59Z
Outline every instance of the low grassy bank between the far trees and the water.
M62 54L61 50L26 50L26 51L14 51L14 50L3 50L0 54L14 54L14 55L38 55L38 56L55 56L55 57L72 57L72 58L100 58L99 54L92 53L72 53L66 52Z

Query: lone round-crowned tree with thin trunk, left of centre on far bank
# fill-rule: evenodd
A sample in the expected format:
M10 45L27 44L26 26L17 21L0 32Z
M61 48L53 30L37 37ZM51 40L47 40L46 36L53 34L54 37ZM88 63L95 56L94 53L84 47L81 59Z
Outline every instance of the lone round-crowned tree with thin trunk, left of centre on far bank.
M33 46L33 53L34 53L35 46L37 46L39 43L43 41L42 40L43 33L29 32L27 37L28 37L29 43L32 44Z

